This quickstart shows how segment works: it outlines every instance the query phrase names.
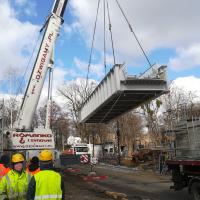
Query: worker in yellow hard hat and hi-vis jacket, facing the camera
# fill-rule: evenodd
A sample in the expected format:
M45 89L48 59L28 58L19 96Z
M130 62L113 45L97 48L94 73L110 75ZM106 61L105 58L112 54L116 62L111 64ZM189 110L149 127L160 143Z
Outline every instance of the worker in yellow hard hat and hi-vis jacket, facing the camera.
M12 169L1 179L0 199L25 200L31 175L23 170L24 156L12 155Z

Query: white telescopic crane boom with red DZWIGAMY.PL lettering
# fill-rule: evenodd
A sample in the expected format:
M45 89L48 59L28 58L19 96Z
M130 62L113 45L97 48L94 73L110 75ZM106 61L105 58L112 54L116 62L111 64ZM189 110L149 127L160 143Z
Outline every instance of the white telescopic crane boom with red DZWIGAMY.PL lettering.
M33 116L41 95L44 80L47 74L48 65L51 62L53 47L63 23L63 15L68 0L55 0L45 23L45 32L36 57L36 61L29 79L26 92L18 115L17 128L30 130Z

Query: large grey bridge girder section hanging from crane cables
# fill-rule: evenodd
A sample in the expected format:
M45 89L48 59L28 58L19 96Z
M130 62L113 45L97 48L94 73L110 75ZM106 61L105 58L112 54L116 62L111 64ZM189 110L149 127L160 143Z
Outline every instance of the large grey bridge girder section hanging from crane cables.
M166 66L152 68L136 77L115 65L79 110L79 122L107 123L168 92Z

